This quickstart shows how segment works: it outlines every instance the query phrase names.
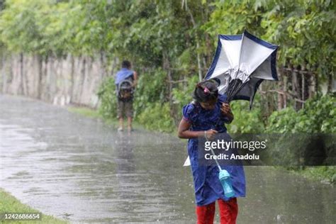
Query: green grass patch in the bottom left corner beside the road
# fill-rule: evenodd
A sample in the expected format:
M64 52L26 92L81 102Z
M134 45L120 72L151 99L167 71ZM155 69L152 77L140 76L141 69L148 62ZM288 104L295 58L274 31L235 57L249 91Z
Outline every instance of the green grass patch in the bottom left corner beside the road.
M11 196L11 194L4 191L4 189L0 189L0 213L40 213L40 211L30 208ZM41 217L40 220L9 220L8 223L68 223L65 220L60 220L50 215L42 214ZM0 221L6 222L1 219Z

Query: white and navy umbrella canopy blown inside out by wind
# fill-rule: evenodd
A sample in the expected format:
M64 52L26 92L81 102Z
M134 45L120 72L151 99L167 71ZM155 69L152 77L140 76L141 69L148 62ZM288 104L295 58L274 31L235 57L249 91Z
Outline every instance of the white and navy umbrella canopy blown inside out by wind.
M218 35L215 57L205 79L220 81L220 94L228 101L245 99L250 108L259 85L278 80L276 75L277 45L267 43L246 30L242 35Z

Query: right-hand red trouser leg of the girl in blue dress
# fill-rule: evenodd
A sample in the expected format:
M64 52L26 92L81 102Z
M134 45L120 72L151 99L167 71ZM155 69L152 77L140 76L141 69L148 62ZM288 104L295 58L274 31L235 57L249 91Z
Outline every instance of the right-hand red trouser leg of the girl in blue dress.
M237 198L230 198L229 201L218 199L220 224L235 224L238 215Z

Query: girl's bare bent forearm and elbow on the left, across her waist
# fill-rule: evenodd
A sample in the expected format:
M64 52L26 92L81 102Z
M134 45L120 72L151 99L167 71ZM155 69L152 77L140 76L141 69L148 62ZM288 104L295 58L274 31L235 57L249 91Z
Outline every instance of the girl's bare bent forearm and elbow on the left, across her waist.
M208 139L211 139L213 138L213 135L217 133L217 130L212 130L212 129L206 130L206 132L204 132L203 130L198 130L198 131L189 130L190 127L191 127L191 123L187 122L186 120L182 118L179 123L179 130L178 130L179 138L198 138L198 137L203 137L206 134L206 137Z

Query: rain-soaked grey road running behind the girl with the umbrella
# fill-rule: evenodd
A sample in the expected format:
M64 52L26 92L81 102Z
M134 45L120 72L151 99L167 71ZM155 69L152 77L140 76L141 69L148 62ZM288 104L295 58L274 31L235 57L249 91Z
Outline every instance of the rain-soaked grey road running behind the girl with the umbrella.
M0 95L0 186L73 223L194 223L186 141L111 126ZM245 167L237 223L333 223L336 190L271 167ZM217 208L218 209L218 208Z

